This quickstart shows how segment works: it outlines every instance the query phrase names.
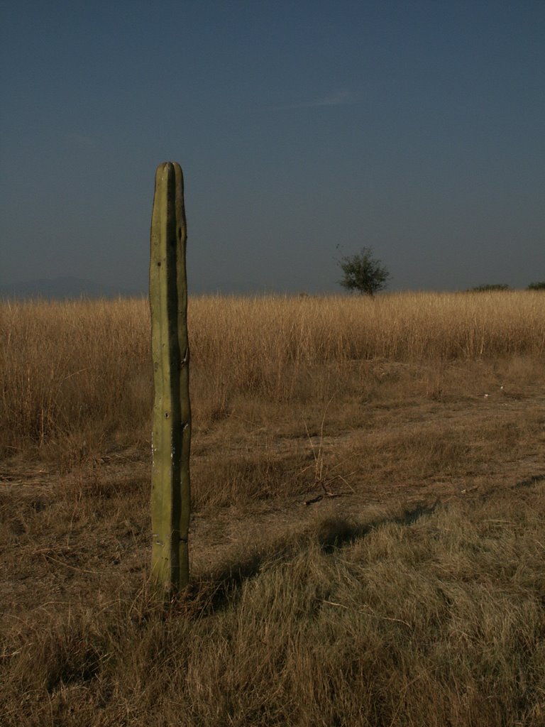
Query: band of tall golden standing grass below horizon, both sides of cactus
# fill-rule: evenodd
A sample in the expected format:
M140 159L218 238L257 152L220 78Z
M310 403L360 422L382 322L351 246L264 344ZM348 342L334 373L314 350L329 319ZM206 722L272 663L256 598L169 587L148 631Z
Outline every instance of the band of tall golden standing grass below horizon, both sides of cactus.
M190 300L193 407L221 417L237 396L327 401L369 388L388 360L440 366L541 360L541 292ZM150 317L142 300L0 306L0 447L77 451L97 439L148 441Z

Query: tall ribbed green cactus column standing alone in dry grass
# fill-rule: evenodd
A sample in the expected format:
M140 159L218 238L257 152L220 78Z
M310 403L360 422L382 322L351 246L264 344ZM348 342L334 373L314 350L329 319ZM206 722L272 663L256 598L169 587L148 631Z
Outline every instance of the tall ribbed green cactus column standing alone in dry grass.
M182 169L159 164L151 220L153 383L152 578L169 593L189 581L191 409L187 233Z

